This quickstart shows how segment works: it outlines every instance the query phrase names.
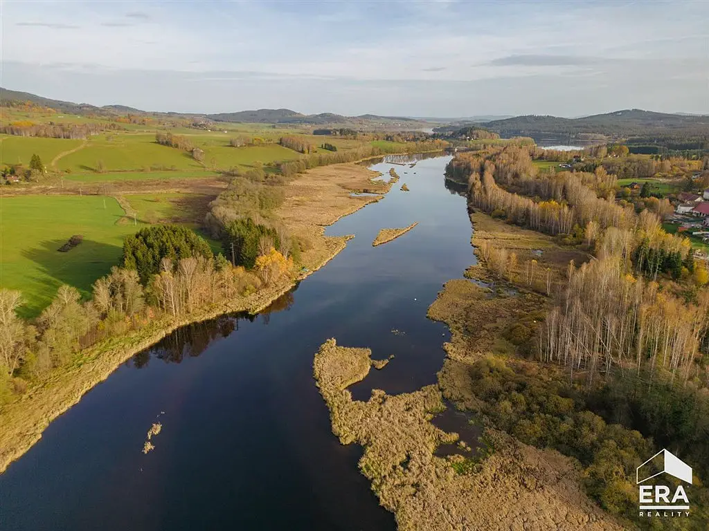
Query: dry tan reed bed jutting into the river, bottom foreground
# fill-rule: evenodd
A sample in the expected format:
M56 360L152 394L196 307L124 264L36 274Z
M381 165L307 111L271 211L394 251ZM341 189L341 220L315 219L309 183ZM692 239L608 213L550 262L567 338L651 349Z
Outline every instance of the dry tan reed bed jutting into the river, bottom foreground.
M474 472L455 471L461 456L436 457L438 445L457 440L431 423L444 407L436 386L353 401L347 386L367 376L370 355L330 339L315 355L314 375L333 433L364 447L359 468L399 530L620 529L588 501L579 470L558 452L487 430L496 452Z

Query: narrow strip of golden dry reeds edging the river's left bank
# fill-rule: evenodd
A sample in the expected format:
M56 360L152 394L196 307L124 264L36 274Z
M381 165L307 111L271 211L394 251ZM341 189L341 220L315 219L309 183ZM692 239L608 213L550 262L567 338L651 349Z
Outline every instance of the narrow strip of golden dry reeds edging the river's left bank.
M337 169L337 166L352 166L352 164L335 164L323 166L323 168ZM308 180L308 173L311 171L303 174L303 181ZM366 168L362 168L362 172L376 173L376 176L367 176L369 180L379 176L379 173ZM335 217L330 217L325 223L311 226L311 229L315 228L318 232L320 246L309 253L317 252L318 256L306 257L307 263L304 264L306 270L296 274L287 282L259 290L259 292L246 297L237 297L229 302L213 304L179 318L164 316L142 329L133 331L133 333L118 338L108 338L80 351L72 363L65 367L58 367L48 379L29 387L26 394L11 404L3 406L0 410L0 474L5 472L13 461L22 457L42 438L44 430L55 418L78 404L87 392L97 384L104 382L118 367L135 354L154 346L162 338L182 326L215 319L225 314L238 312L257 314L281 295L293 289L298 282L323 268L340 251L345 249L347 241L354 237L352 235L325 236L325 227L335 224L342 217L357 212L369 203L381 200L390 189L391 186L388 186L382 190L381 195L362 198L359 204L354 202L354 205L349 205L349 201L347 201L342 205L345 207L345 212L337 212ZM342 194L345 194L343 197L350 198L349 192L345 188L342 188Z

